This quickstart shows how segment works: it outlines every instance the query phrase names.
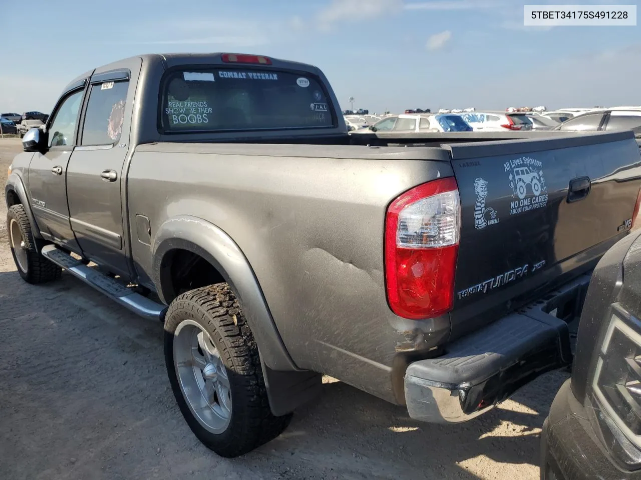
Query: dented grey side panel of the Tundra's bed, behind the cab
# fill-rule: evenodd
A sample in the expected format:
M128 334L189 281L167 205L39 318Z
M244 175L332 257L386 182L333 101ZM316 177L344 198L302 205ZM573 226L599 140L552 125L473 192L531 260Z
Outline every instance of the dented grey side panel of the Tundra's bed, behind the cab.
M187 214L217 225L246 255L296 365L325 372L394 400L390 372L404 349L427 349L449 333L449 317L408 321L387 305L383 230L389 202L403 191L453 174L440 161L243 154L247 146L139 147L128 179L129 218L151 219L151 235ZM163 151L174 150L174 151ZM182 151L181 151L182 150ZM304 150L304 152L303 152ZM395 150L410 149L397 148ZM313 151L313 150L312 150ZM153 243L152 243L153 244ZM138 268L149 246L133 242Z

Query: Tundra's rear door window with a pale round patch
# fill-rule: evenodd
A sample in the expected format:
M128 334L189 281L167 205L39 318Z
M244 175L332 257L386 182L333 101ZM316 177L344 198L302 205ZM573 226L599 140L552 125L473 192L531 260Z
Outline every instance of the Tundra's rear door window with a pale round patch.
M122 133L129 81L93 84L80 145L113 145Z

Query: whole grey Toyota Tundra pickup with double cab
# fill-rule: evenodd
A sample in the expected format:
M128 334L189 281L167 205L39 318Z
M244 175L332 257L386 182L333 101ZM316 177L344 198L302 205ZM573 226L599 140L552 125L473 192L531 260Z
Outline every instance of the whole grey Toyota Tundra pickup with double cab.
M316 67L129 58L24 136L10 246L26 282L65 270L164 321L179 409L222 456L279 435L322 374L462 422L570 364L639 204L632 132L508 133L356 138Z

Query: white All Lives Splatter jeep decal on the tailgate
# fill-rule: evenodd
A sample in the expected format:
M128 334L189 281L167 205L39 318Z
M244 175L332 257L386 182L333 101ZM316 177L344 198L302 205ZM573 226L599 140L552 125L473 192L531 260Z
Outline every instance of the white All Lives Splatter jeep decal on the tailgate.
M512 202L510 215L536 210L547 205L547 186L543 175L543 164L531 157L507 161L504 170L509 173Z

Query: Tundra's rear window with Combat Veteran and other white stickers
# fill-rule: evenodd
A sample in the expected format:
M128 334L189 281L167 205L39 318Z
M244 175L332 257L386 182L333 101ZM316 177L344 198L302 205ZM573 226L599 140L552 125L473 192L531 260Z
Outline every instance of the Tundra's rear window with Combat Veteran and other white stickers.
M258 68L171 72L163 83L167 132L333 127L331 102L311 76Z

